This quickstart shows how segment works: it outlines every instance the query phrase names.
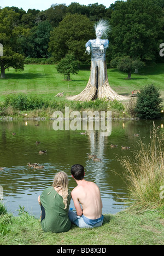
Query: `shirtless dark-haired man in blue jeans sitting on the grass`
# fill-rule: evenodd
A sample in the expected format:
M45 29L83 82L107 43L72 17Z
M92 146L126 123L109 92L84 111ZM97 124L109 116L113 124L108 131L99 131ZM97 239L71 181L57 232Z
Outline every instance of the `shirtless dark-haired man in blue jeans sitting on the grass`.
M95 183L85 181L85 172L82 165L73 165L71 174L78 184L71 193L77 213L69 210L69 219L79 228L101 226L103 215L99 188Z

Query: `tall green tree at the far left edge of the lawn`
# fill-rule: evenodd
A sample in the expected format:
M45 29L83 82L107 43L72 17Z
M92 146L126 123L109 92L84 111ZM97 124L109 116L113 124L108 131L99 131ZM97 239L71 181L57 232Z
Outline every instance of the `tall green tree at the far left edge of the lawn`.
M20 45L17 38L20 36L21 28L19 13L7 8L0 9L0 43L3 45L3 56L0 56L1 78L5 77L5 69L24 69L24 56L19 53Z

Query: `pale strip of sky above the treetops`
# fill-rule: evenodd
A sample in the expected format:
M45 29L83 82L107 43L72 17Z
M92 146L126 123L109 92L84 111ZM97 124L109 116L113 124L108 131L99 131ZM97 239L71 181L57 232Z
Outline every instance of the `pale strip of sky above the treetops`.
M65 3L66 5L71 4L72 2L77 2L79 4L93 4L93 3L98 3L98 4L103 4L107 8L110 7L110 4L114 3L115 0L0 0L0 7L18 7L22 8L25 11L28 9L36 9L36 10L47 10L51 7L52 4L63 4Z

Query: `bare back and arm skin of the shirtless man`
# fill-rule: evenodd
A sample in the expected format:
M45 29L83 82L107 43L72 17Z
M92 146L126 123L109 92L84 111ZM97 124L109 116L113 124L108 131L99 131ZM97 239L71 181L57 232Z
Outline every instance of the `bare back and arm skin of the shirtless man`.
M93 182L84 179L77 181L78 186L72 190L72 199L77 215L84 214L89 219L98 219L102 216L102 200L99 188ZM80 206L81 204L81 206ZM83 212L81 211L83 208Z

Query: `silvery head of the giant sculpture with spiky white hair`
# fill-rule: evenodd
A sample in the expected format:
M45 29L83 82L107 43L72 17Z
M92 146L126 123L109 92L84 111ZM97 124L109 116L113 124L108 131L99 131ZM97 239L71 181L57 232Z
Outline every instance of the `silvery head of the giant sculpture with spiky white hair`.
M102 36L104 36L105 38L108 37L108 32L110 31L110 26L108 24L108 21L106 21L106 20L99 20L95 24L94 27L95 27L97 39L101 39Z

